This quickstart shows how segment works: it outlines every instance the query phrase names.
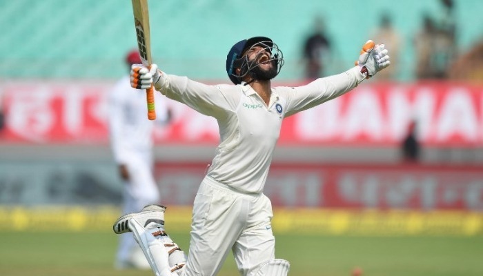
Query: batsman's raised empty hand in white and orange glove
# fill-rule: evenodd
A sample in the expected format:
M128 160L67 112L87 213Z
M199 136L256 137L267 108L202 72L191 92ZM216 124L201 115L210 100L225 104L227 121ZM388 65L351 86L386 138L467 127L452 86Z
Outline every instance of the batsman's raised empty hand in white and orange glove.
M355 61L355 65L359 66L361 72L366 74L366 78L369 79L380 70L388 67L391 64L390 59L384 44L376 45L374 41L368 40L362 46L361 55Z

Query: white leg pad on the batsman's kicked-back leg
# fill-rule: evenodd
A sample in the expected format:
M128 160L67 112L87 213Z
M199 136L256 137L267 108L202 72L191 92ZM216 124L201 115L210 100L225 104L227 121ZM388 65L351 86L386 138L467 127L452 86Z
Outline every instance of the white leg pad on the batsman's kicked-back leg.
M129 219L128 225L155 275L172 276L168 262L168 252L164 248L164 244L153 237L149 231L146 231L136 219Z

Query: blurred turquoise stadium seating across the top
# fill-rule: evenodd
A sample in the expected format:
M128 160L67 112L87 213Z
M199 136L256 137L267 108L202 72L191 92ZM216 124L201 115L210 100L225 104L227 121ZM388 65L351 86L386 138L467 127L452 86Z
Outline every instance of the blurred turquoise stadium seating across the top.
M302 76L302 40L322 14L337 51L337 72L353 64L380 12L393 15L404 37L401 80L413 79L412 39L422 12L439 12L439 1L150 1L153 57L168 72L197 79L226 79L224 59L240 39L266 35L284 50L281 78ZM483 1L456 3L458 41L480 37ZM0 77L99 78L124 73L124 53L134 48L130 1L0 0ZM473 18L471 21L462 19ZM26 66L28 65L28 66ZM106 70L106 68L109 68Z

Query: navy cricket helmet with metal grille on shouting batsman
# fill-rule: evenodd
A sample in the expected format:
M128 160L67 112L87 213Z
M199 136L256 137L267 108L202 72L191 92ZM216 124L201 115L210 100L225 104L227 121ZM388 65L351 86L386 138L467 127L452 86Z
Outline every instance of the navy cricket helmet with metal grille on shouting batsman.
M264 47L270 52L270 61L275 61L275 66L277 66L277 75L284 65L284 54L279 50L277 44L273 43L272 39L268 37L252 37L238 41L226 56L226 73L233 83L242 83L242 77L245 77L253 68L259 66L259 63L248 62L248 57L244 56L246 50L253 46ZM236 72L237 68L242 69L239 74Z

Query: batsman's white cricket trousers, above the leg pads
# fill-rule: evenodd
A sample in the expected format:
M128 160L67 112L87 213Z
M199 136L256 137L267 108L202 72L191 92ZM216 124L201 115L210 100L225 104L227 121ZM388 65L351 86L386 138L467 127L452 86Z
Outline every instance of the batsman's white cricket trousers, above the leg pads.
M246 195L205 177L193 204L188 259L183 275L217 275L230 249L242 275L275 259L270 199Z

